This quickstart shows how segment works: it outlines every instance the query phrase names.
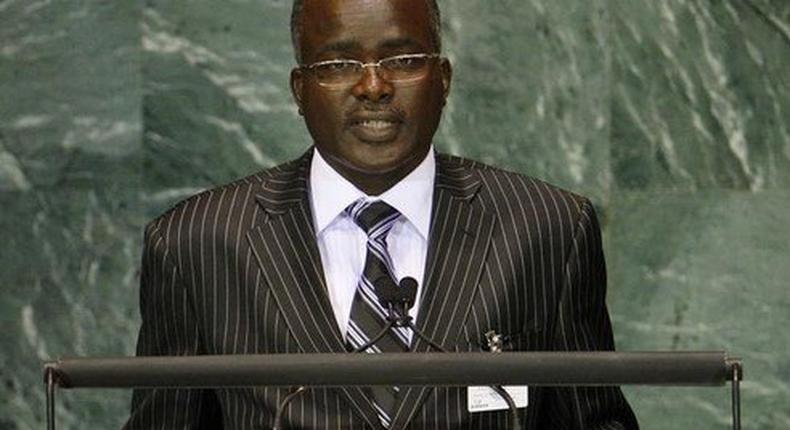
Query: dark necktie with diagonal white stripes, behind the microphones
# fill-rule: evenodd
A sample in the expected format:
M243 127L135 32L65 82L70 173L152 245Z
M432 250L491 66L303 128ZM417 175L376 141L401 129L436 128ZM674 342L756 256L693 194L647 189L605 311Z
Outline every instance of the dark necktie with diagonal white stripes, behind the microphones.
M392 275L392 258L387 250L389 234L400 213L382 201L357 200L346 209L354 222L367 234L367 253L365 268L357 285L354 302L351 305L351 319L348 324L347 342L353 350L375 337L387 324L386 311L378 301L375 282ZM408 350L407 328L389 330L375 345L366 350L368 353L404 352ZM389 427L398 399L397 387L373 387L373 406L385 427Z

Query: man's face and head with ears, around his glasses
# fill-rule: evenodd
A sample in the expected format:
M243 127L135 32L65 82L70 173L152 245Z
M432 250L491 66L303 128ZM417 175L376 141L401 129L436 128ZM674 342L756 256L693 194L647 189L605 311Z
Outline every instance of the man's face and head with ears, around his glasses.
M430 26L424 0L306 0L303 62L368 63L434 53ZM340 87L320 85L308 70L292 73L294 97L316 147L363 191L383 192L427 154L452 74L444 59L427 67L423 77L410 82L388 81L367 67L358 80Z

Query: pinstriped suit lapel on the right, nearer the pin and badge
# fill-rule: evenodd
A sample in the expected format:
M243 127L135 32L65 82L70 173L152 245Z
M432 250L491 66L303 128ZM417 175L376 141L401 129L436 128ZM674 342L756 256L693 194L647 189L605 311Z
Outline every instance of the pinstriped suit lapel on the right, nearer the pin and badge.
M496 218L471 202L481 186L475 172L457 159L437 156L431 239L417 326L450 349L462 331L482 274ZM427 352L417 340L413 350ZM393 420L400 429L411 420L431 388L409 387Z

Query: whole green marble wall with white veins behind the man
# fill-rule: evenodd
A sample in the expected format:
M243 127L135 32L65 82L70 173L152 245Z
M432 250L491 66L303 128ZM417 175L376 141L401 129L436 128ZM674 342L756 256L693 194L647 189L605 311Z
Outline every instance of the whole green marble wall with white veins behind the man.
M747 428L790 428L790 2L440 5L437 145L591 196L619 348L741 356ZM43 427L41 361L133 352L146 220L307 148L289 8L0 0L0 430ZM626 391L643 428L727 428L726 388Z

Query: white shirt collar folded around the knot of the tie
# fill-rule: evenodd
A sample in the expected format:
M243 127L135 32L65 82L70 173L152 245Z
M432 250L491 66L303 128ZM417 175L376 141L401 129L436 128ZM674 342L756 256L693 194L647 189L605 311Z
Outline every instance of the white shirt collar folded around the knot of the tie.
M316 149L310 163L310 202L316 234L360 198L382 200L398 210L428 240L436 177L433 146L424 160L400 182L379 196L368 196L335 171Z

